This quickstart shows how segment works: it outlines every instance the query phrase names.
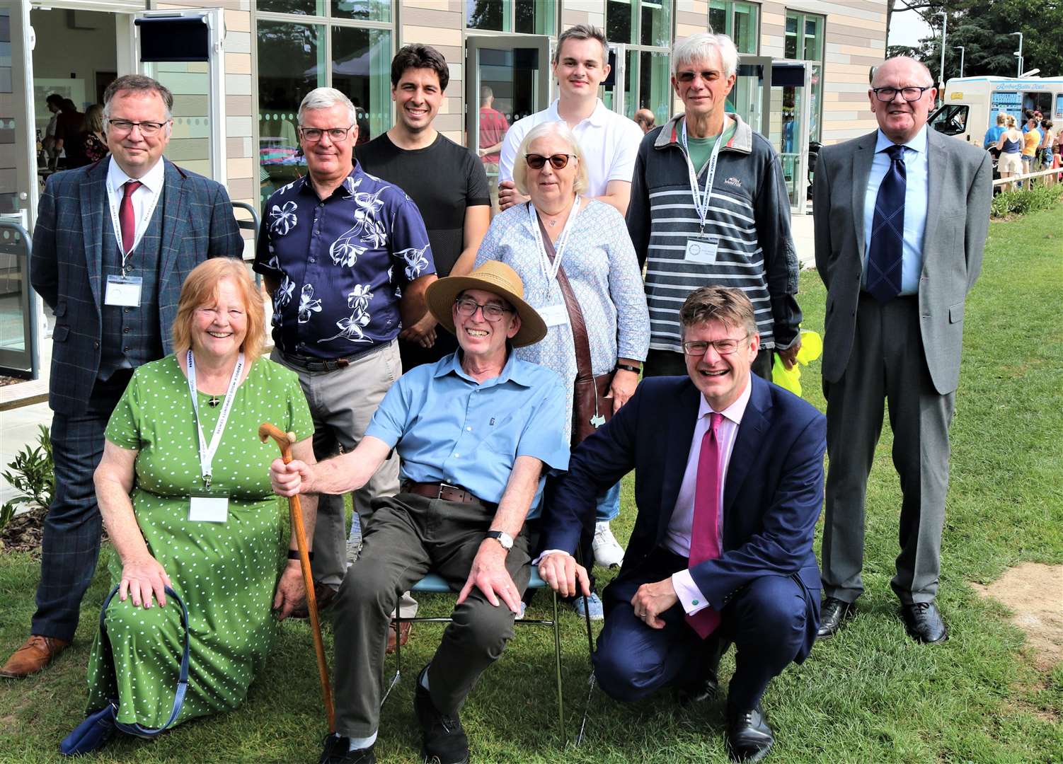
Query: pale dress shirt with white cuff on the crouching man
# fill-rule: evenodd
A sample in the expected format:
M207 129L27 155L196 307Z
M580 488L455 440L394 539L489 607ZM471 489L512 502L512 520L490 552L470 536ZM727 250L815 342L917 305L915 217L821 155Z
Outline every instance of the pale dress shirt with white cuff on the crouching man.
M745 407L749 403L749 395L753 393L753 379L746 380L745 390L738 396L738 400L725 408L722 413L724 419L720 423L720 451L723 454L723 474L720 476L720 519L716 524L716 539L720 550L723 551L724 537L724 486L727 482L727 468L730 465L731 452L735 451L735 441L738 436L738 426L742 423L742 415ZM702 439L709 430L712 423L711 414L713 409L703 395L701 406L697 409L697 424L694 425L694 436L690 441L690 454L687 457L687 470L682 474L682 482L679 485L679 494L675 499L675 509L672 510L672 519L668 524L668 531L664 536L664 546L680 557L690 557L690 532L694 523L694 493L697 488L697 461L702 456ZM702 590L694 583L694 577L690 571L678 571L672 574L672 585L679 597L679 602L688 615L693 615L698 610L708 607Z

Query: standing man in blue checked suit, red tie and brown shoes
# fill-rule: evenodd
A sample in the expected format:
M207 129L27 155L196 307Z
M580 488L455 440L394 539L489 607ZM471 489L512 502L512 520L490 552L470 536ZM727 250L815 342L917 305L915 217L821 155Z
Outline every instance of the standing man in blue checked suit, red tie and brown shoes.
M73 639L100 550L92 472L133 369L171 352L185 276L240 257L225 189L163 158L173 96L126 75L104 94L111 157L48 180L30 281L55 312L49 404L55 495L45 520L31 636L0 676L40 670Z

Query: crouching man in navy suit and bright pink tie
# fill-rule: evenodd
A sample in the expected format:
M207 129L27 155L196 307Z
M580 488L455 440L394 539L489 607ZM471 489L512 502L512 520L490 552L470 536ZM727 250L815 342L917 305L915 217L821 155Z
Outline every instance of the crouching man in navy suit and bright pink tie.
M760 337L740 290L698 289L679 317L689 376L644 379L576 448L546 506L539 572L562 594L588 591L570 553L594 496L635 469L639 513L605 590L597 681L618 700L665 685L702 699L733 643L727 749L759 761L774 743L760 698L808 657L820 622L826 420L750 375Z

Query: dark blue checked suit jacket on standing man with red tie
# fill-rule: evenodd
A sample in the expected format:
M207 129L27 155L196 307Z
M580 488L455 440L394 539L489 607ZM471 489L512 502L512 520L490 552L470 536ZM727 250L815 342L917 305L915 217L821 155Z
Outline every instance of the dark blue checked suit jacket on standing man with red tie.
M55 311L48 403L82 414L100 368L103 305L103 226L109 157L48 179L33 228L30 283ZM171 353L181 285L208 257L241 257L233 205L224 186L167 159L158 258L158 324Z

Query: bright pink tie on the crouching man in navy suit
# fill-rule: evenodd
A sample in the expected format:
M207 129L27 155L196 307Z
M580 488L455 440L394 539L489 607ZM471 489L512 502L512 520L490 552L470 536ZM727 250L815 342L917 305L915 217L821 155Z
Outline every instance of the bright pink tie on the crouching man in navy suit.
M724 415L713 411L711 417L697 457L688 567L720 557L720 423ZM688 615L687 623L704 640L720 626L720 613L711 607L704 608Z

